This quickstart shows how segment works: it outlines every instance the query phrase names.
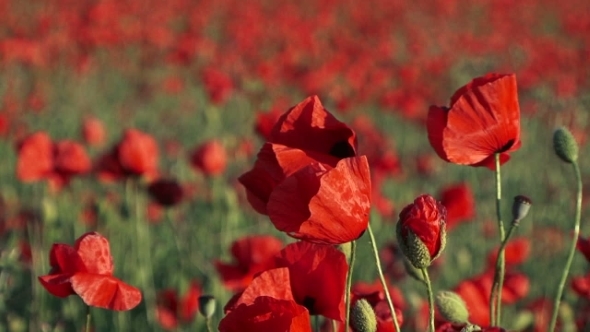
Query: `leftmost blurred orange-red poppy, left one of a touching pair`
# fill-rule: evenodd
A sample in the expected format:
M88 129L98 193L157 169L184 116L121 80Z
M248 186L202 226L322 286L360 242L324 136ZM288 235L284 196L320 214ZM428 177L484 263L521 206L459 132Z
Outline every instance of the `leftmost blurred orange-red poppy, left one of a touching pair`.
M45 132L37 132L18 145L16 177L23 182L39 181L53 171L53 144Z

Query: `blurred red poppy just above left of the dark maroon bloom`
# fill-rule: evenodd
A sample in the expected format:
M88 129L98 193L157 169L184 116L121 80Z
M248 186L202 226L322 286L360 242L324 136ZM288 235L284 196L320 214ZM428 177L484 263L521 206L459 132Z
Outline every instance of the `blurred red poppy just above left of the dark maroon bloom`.
M153 176L158 171L156 140L139 130L125 131L117 146L117 157L123 170L129 174Z

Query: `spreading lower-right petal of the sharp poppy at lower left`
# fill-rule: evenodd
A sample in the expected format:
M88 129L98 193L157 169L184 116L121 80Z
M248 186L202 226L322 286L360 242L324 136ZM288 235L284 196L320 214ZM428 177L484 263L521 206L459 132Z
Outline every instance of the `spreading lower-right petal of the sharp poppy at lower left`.
M70 280L76 294L89 306L123 311L133 309L141 302L139 289L115 277L76 273Z

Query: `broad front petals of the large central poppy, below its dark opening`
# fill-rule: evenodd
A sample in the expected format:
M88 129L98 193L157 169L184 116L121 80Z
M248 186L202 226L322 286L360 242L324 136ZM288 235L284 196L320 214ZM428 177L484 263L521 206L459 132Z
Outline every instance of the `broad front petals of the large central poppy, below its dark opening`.
M342 159L335 168L312 163L281 182L267 206L275 227L311 242L340 244L366 230L371 208L367 158Z

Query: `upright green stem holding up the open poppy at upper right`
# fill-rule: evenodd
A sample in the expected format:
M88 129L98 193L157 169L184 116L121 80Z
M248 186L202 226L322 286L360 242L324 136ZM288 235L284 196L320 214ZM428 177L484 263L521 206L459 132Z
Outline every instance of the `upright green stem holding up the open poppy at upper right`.
M500 173L500 154L495 154L495 161L496 161L496 219L498 220L498 230L500 235L500 244L504 243L505 238L505 231L504 231L504 223L502 222L502 212L500 209L500 203L502 201L502 176ZM497 294L494 294L494 290L498 289L499 280L504 280L504 269L505 269L505 260L504 260L504 251L498 252L498 264L496 265L496 272L494 273L494 283L492 284L492 290L490 293L490 322L491 326L497 326L499 322L499 317L501 316L500 310L501 308L501 297L502 297L502 290L499 289ZM497 315L497 316L496 316Z

